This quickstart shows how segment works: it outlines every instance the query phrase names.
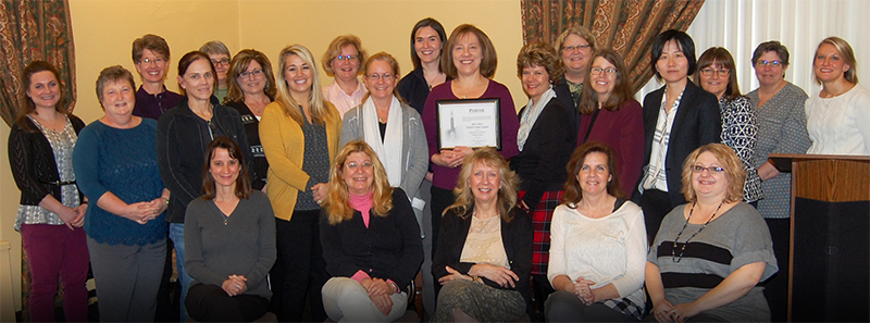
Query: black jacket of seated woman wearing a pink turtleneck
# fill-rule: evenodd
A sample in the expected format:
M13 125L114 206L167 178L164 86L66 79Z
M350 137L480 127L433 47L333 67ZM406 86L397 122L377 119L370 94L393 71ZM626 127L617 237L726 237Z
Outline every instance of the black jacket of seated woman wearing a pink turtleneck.
M351 277L363 271L373 278L391 279L402 291L408 291L408 283L423 263L420 226L401 188L393 189L389 215L382 218L369 211L369 227L360 211L336 225L330 224L324 211L320 239L326 271L333 276Z

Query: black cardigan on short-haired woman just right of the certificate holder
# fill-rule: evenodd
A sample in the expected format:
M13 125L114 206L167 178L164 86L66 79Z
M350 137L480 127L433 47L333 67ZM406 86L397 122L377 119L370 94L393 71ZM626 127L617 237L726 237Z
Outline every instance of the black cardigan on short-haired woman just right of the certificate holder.
M520 115L525 113L520 110ZM562 190L564 166L576 146L571 111L560 100L550 99L538 115L520 154L510 159L510 169L520 175L523 201L534 209L545 191Z

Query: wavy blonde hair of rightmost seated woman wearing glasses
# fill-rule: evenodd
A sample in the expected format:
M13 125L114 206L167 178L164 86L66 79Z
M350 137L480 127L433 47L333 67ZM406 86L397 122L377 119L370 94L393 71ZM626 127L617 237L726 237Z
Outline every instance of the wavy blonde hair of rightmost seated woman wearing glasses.
M698 160L698 156L710 152L719 161L720 166L725 169L725 179L728 189L725 191L725 202L736 202L743 200L743 186L746 183L746 170L737 154L731 147L722 144L707 144L695 149L683 163L682 183L683 196L689 202L697 201L695 188L692 187L692 166Z

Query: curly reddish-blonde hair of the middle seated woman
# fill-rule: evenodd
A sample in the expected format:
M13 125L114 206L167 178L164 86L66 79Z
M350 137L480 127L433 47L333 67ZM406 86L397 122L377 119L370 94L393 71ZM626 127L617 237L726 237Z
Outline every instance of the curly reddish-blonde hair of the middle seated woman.
M492 147L475 150L462 160L462 170L459 172L459 179L456 188L453 188L456 202L447 207L442 216L452 211L463 218L474 208L474 194L471 191L469 182L474 167L477 165L498 170L501 177L501 183L498 186L498 213L505 222L510 222L513 220L510 211L517 207L517 187L520 184L520 177L510 170L505 158Z

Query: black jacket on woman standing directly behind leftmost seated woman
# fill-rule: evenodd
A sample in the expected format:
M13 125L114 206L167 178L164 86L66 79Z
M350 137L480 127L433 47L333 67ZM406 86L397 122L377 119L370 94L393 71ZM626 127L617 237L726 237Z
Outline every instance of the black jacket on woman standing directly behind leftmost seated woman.
M214 96L211 97L211 103L214 105L211 119L213 126L236 141L250 169L253 157L248 147L241 117L236 110L219 104ZM170 223L184 223L187 204L202 196L202 166L210 141L200 135L202 127L208 126L201 120L190 110L185 97L178 102L178 107L163 113L157 123L160 177L172 192L170 207L166 209L166 221Z

